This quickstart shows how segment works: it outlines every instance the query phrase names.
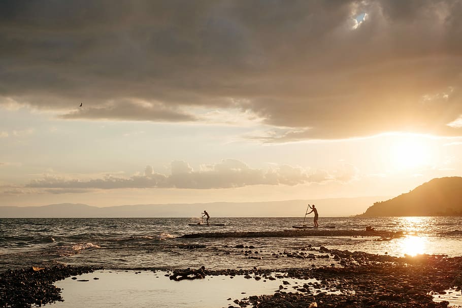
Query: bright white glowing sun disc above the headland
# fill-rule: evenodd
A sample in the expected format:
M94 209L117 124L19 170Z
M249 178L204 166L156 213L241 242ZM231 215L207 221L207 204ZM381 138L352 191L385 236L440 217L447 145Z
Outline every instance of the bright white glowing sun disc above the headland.
M430 163L431 147L419 138L400 138L391 145L391 163L399 169L409 169Z

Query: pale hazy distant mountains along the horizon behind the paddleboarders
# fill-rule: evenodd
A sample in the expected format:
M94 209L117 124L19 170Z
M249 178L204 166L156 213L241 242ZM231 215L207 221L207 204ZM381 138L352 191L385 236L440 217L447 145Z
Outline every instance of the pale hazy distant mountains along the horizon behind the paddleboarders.
M285 200L268 202L214 202L193 204L138 204L93 207L61 203L39 207L0 207L0 217L304 217L307 204L316 204L320 217L351 216L363 212L373 202L386 197ZM311 214L313 216L313 214Z

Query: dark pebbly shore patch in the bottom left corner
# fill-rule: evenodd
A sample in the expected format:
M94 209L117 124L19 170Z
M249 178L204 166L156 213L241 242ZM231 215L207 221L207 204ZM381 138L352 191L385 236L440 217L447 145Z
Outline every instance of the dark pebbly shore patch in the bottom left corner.
M63 301L54 282L92 272L97 267L56 265L6 270L0 273L0 307L31 307Z

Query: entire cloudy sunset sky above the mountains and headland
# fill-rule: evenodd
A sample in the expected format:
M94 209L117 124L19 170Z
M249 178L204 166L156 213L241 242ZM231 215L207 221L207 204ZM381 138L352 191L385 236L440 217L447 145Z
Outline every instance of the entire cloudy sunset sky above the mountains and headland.
M395 196L461 176L461 15L2 1L0 206Z

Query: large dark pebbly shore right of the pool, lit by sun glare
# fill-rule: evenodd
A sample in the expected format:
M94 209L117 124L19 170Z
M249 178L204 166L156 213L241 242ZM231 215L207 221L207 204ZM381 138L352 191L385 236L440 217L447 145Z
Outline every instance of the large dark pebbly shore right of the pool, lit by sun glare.
M415 257L392 257L364 252L349 252L320 248L341 267L323 266L289 269L249 270L175 270L171 279L181 277L204 278L207 275L225 275L233 278L244 275L247 279L274 280L274 272L287 278L316 279L318 282L290 286L284 283L273 295L252 295L235 299L236 305L228 308L255 306L260 308L293 307L448 307L448 301L435 302L434 294L445 290L461 292L462 257L448 258L444 255L417 255ZM333 264L334 265L334 264ZM192 273L192 275L190 275ZM279 276L278 276L279 275ZM280 274L276 278L282 278ZM293 288L293 291L289 291Z

